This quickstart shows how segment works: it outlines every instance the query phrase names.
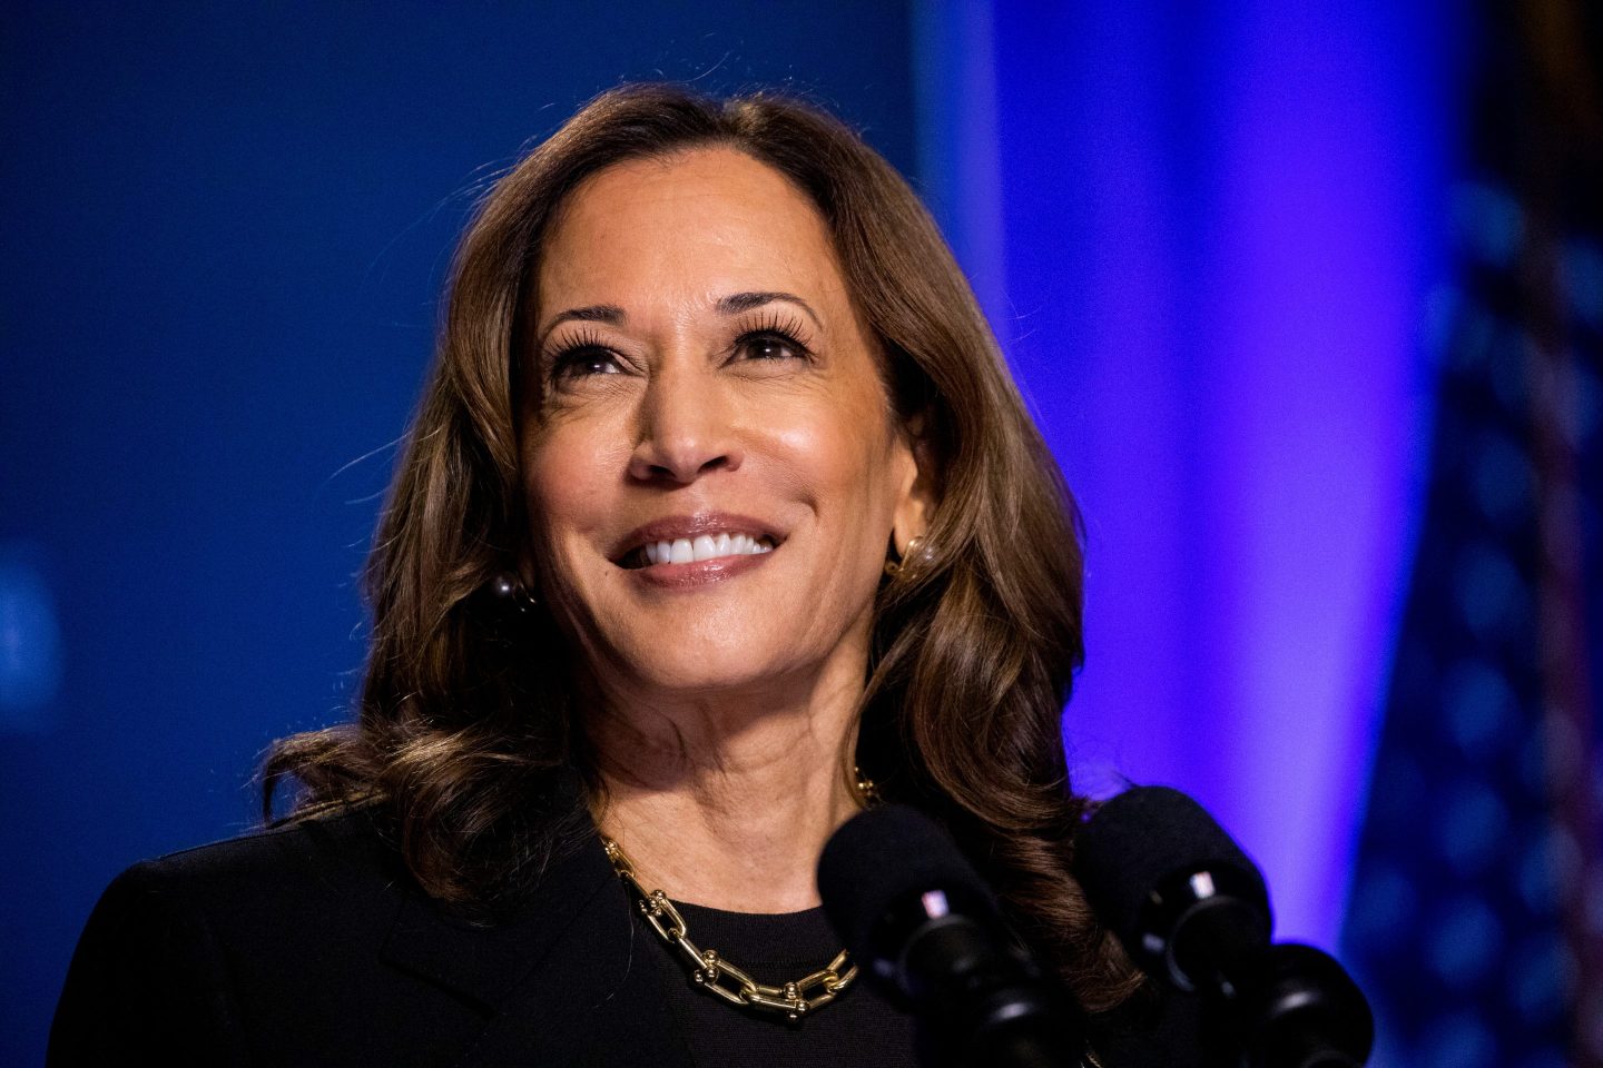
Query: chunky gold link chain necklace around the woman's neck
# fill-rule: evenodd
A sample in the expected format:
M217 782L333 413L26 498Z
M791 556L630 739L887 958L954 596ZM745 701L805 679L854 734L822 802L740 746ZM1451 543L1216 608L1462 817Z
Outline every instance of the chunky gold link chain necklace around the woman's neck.
M792 1023L802 1020L810 1012L818 1012L835 1001L851 980L858 977L858 966L845 950L822 969L782 986L758 983L745 970L718 956L717 950L702 950L691 942L689 929L680 909L662 890L648 890L635 876L635 865L609 837L601 839L606 858L612 861L612 871L628 887L635 906L644 916L651 929L668 943L668 946L684 959L696 985L710 994L723 998L731 1006L747 1006L768 1012L784 1014Z

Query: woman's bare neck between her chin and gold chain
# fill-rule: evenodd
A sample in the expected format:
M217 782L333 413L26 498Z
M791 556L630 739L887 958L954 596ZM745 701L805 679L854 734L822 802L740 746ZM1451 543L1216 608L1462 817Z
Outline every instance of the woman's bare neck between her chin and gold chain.
M606 693L590 724L596 823L643 884L741 913L818 905L824 842L859 807L848 778L862 673L720 693Z

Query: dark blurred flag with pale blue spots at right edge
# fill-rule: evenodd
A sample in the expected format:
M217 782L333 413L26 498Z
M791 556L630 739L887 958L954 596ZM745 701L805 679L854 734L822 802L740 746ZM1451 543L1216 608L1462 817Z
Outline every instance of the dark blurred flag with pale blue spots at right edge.
M1600 5L1484 11L1345 954L1380 1068L1603 1065Z

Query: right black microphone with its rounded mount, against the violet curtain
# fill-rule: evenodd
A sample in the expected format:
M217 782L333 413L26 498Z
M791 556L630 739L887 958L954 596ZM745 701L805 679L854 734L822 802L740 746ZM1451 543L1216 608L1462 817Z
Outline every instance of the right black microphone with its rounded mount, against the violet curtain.
M1263 876L1202 805L1138 786L1101 805L1074 845L1096 914L1148 975L1196 991L1249 1068L1359 1068L1375 1025L1327 953L1271 943Z

